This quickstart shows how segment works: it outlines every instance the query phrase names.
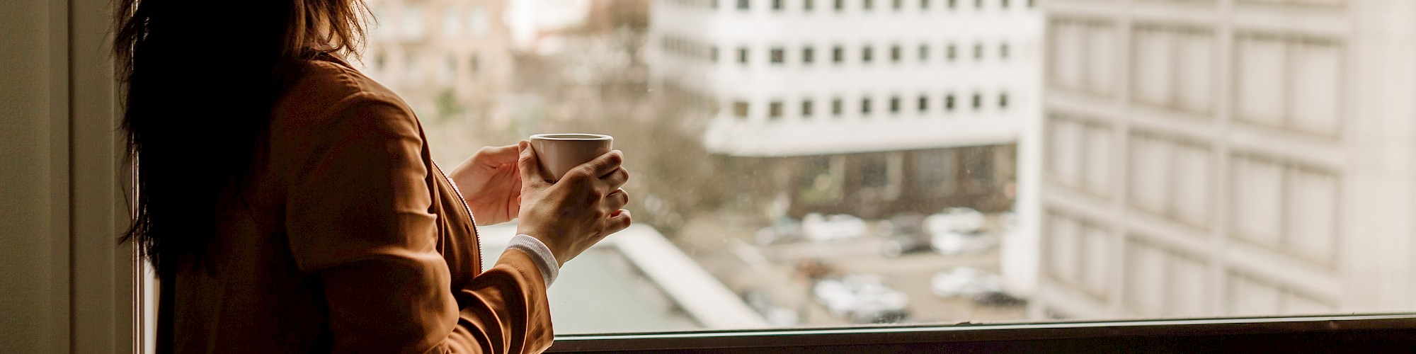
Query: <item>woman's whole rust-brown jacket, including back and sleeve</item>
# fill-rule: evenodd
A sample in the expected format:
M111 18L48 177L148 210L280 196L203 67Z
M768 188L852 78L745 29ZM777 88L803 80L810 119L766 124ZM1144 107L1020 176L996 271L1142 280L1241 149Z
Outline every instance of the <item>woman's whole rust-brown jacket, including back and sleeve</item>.
M422 126L337 58L276 103L244 202L202 266L161 283L161 353L535 353L551 313L535 262L481 270L473 219Z

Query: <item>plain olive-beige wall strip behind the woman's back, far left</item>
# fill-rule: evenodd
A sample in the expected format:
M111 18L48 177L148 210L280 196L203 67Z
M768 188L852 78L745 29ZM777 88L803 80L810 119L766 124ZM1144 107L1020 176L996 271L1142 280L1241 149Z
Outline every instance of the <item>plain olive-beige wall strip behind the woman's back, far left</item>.
M0 353L133 353L106 0L0 1Z

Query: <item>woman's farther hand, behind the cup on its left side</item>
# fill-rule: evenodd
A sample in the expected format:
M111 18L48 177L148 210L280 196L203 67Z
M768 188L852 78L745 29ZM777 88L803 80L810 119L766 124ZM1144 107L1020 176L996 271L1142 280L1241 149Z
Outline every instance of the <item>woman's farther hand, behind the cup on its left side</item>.
M517 146L484 146L452 170L477 225L511 221L521 212L521 171Z

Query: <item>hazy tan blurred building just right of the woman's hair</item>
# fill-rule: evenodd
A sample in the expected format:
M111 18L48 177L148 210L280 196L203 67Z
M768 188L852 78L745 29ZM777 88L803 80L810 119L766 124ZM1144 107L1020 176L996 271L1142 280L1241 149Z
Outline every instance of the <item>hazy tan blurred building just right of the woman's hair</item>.
M364 72L398 92L426 120L462 119L483 129L510 123L506 0L368 0L377 18Z

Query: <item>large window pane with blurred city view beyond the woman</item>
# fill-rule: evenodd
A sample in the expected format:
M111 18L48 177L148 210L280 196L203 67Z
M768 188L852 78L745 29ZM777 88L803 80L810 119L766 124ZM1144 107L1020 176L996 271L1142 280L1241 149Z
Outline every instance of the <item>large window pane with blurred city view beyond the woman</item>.
M1403 1L367 1L439 164L624 152L556 334L1416 307Z

